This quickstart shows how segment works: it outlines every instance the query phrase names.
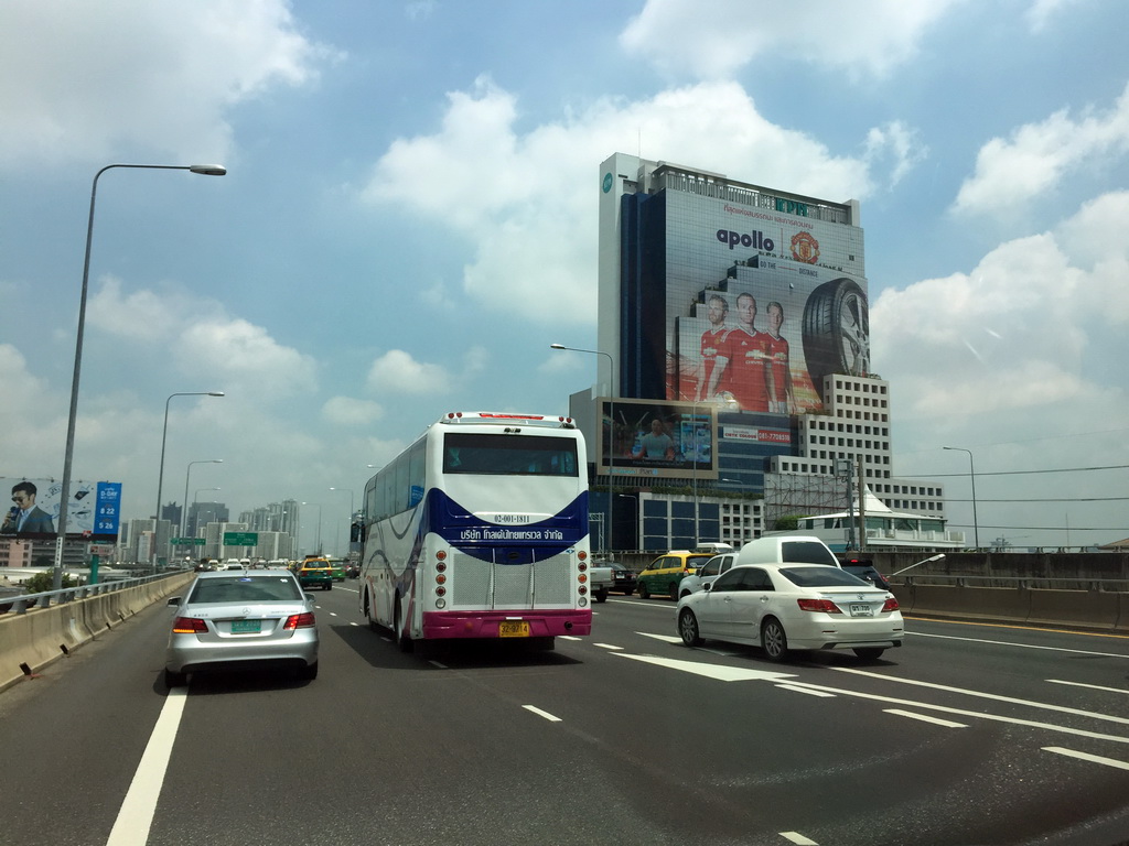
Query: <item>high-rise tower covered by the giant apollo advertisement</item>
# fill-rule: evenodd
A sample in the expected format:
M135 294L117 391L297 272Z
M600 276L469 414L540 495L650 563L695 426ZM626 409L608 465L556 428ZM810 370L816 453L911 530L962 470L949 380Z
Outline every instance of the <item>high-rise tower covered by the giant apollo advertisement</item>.
M625 153L598 184L601 360L570 413L613 548L743 543L840 511L843 462L878 497L942 514L939 485L890 465L857 201Z

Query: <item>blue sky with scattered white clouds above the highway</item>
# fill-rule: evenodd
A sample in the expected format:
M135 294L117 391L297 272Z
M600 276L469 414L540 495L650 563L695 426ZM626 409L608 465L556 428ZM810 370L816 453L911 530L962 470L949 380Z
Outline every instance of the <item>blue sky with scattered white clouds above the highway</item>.
M104 166L228 174L99 177L73 478L154 513L167 404L163 502L316 503L343 548L368 467L444 413L595 381L549 345L595 349L621 151L858 200L895 475L971 538L974 468L981 545L1129 537L1127 28L1121 0L5 0L0 477L62 475Z

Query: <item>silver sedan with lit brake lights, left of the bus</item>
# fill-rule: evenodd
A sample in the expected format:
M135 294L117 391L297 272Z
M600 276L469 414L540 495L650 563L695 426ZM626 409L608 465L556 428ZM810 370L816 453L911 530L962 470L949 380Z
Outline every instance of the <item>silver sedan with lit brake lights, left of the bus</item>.
M201 573L185 597L165 653L165 685L187 673L221 669L294 668L317 677L314 600L294 573L279 570Z

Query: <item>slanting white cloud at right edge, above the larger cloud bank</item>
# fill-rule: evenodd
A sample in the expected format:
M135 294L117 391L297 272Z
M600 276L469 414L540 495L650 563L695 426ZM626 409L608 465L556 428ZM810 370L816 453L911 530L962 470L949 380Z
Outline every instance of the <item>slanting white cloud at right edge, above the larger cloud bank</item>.
M975 173L961 185L953 211L1013 214L1054 191L1075 170L1092 170L1097 160L1127 150L1129 85L1104 112L1089 108L1073 118L1061 109L1040 123L1019 126L1007 140L991 139L980 148Z

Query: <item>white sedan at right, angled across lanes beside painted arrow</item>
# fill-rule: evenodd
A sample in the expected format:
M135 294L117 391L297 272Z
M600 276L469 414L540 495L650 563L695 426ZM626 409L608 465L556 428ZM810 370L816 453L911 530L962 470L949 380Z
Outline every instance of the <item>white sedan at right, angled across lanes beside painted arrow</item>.
M875 659L905 634L893 593L823 564L735 566L680 599L677 620L688 646L745 643L771 661L789 650L830 649Z

